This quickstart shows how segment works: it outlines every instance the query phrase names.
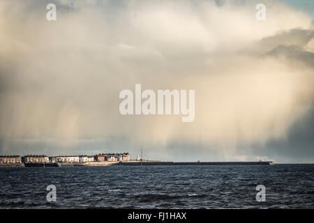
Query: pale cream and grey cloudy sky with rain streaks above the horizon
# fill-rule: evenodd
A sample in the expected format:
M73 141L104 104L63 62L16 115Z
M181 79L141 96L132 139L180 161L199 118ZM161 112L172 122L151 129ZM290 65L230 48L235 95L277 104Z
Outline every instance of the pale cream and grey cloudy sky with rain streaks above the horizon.
M0 154L313 163L313 2L260 2L1 1ZM195 120L121 115L135 84L195 90Z

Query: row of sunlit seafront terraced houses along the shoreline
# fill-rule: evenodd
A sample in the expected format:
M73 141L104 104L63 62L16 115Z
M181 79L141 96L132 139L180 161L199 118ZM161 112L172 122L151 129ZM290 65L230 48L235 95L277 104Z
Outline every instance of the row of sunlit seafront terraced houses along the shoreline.
M22 162L122 162L129 161L128 153L101 153L98 155L1 155L0 163Z

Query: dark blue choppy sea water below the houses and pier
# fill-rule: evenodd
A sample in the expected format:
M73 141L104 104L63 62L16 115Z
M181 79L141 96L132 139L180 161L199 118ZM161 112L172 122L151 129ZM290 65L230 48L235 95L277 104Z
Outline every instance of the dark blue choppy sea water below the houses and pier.
M314 208L313 183L314 164L0 168L0 208Z

